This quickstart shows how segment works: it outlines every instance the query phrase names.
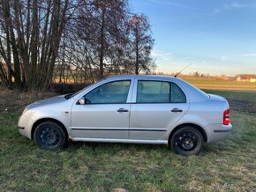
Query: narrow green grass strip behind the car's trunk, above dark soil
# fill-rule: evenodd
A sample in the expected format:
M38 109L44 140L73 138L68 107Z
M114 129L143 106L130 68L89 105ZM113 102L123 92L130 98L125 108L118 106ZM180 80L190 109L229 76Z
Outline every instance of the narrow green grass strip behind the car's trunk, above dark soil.
M256 102L256 92L250 91L223 91L223 90L203 90L207 93L221 95L224 98L237 100L250 100Z

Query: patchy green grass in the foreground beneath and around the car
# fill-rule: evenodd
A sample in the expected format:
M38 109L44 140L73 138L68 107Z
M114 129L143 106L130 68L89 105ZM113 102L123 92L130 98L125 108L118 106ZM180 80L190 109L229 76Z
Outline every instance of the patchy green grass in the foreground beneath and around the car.
M69 143L44 151L19 135L18 114L0 114L1 191L250 191L256 188L256 114L232 114L226 141L197 157L164 145Z

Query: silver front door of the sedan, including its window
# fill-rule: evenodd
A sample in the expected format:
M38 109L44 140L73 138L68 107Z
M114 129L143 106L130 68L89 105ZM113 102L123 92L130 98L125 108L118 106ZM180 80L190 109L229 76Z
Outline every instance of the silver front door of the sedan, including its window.
M72 107L72 137L127 139L132 80L112 81L84 95L85 105Z

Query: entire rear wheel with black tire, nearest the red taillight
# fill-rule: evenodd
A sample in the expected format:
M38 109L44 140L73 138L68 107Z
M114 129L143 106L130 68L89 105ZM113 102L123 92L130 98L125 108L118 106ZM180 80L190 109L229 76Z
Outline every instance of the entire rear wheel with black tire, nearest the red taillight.
M199 155L202 143L202 134L198 129L192 127L177 129L170 139L172 150L184 156Z

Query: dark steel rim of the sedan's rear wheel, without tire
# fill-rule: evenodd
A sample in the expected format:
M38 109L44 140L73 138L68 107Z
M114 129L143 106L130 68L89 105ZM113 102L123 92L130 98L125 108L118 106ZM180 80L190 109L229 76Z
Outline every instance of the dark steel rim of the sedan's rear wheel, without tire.
M198 138L192 133L182 133L177 137L176 144L183 151L192 151L198 144Z

